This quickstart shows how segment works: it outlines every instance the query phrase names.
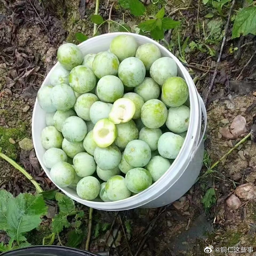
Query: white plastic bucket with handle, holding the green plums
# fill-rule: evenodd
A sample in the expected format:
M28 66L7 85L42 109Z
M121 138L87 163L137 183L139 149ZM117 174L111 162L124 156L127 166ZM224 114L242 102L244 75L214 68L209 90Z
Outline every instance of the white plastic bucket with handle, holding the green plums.
M108 211L128 210L136 207L159 207L174 202L183 194L185 194L194 184L202 167L204 150L202 138L205 133L205 129L202 133L201 110L203 111L205 121L204 126L206 127L206 109L202 98L197 92L193 80L181 62L159 43L142 35L120 32L99 35L97 37L90 38L85 42L82 42L78 46L84 55L88 53L106 51L109 49L111 40L120 34L132 35L139 45L144 43L153 43L159 47L162 57L171 57L175 60L178 67L178 75L186 80L189 87L190 123L185 142L183 143L179 155L170 166L170 169L148 189L137 195L116 202L94 202L79 198L76 191L71 188L61 188L55 184L63 193L75 201L95 209ZM42 86L49 84L50 75L58 65L60 64L57 62L55 66L50 70L49 74L43 81ZM36 99L32 117L32 137L34 148L39 163L41 164L47 176L51 179L50 169L46 168L42 161L45 149L41 144L40 134L43 128L46 127L45 115L45 111L41 109Z

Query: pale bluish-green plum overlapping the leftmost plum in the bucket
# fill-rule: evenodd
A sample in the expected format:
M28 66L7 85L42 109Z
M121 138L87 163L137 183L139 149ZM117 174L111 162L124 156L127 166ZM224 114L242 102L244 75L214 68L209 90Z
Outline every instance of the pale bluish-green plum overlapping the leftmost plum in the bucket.
M65 83L55 85L51 91L51 101L57 110L67 111L74 107L76 97L69 85Z

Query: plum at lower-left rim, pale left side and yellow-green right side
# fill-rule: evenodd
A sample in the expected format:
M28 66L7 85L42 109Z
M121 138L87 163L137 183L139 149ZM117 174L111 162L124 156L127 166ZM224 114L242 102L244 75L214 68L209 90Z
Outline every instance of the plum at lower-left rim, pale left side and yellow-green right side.
M58 162L51 168L50 177L56 185L68 187L74 182L75 169L67 162Z

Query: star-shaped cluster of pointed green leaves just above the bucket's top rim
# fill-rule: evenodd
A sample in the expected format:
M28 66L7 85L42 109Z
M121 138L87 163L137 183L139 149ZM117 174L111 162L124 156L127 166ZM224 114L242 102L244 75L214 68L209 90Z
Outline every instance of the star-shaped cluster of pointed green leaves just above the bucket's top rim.
M137 27L143 32L149 31L150 36L155 40L160 40L164 37L167 29L174 29L180 24L180 21L174 21L169 17L164 17L165 7L162 7L155 15L154 19L149 19L140 23Z

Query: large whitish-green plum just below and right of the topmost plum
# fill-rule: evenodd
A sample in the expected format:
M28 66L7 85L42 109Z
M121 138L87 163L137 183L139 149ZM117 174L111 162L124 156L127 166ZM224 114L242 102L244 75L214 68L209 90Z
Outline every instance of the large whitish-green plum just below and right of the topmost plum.
M135 57L124 59L118 68L118 77L128 87L135 87L142 83L146 75L143 62Z

